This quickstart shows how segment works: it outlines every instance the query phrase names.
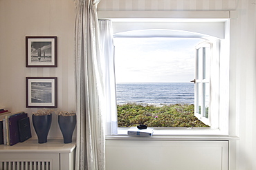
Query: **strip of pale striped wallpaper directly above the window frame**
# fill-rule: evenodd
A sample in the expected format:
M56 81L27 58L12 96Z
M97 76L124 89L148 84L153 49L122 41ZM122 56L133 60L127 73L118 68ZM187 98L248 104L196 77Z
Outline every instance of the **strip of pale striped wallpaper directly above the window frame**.
M239 0L101 0L98 10L235 10Z

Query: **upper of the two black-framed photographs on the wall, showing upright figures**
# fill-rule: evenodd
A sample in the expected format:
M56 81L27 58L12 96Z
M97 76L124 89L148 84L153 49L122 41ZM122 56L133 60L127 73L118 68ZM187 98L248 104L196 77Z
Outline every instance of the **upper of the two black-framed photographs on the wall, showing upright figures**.
M26 36L26 67L57 67L57 36Z

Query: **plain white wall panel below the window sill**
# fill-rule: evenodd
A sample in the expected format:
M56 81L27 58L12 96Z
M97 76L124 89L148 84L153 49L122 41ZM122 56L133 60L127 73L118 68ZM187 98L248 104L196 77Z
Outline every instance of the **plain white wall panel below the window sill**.
M107 170L228 170L228 141L107 140Z

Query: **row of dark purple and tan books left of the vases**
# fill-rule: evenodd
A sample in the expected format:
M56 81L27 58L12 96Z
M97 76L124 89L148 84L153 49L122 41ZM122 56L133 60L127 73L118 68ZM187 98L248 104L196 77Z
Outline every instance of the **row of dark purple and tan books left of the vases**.
M0 113L0 145L12 146L28 138L31 138L28 114L24 111L14 114L9 111Z

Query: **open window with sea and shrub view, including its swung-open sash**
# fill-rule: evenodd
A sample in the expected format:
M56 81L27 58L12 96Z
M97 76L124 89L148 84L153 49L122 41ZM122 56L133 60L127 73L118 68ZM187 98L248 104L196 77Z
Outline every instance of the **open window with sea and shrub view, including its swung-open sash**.
M149 31L153 32L152 30ZM157 30L157 34L162 34L161 31ZM130 34L134 35L134 32L136 34L140 32L140 37L129 37ZM172 33L174 34L174 32ZM150 111L143 107L138 112L144 111L145 114L142 113L140 116L132 111L135 106L119 107L120 105L118 105L118 113L126 111L130 115L123 116L119 113L118 125L121 127L136 126L133 123L160 127L207 127L205 125L208 125L208 127L219 128L219 111L217 109L219 108L219 99L214 98L214 94L219 94L219 47L217 47L219 40L205 41L203 38L192 39L184 36L179 38L156 38L149 36L147 30L126 32L125 34L128 37L114 38L114 44L116 45L116 80L125 82L117 85L118 104L142 103L142 105L156 105L158 107L159 105L170 106L170 104L174 104L176 107L182 104L194 104L192 106L194 110L188 112L194 114L202 124L189 115L181 114L183 112L182 106L180 108L174 107L176 109L174 112L169 111L169 107L165 109L167 115L176 113L176 116L173 119L166 117L165 123L163 123L157 119L158 114L155 112L154 114L149 113ZM142 37L143 34L147 34L147 36ZM125 41L132 45L127 45ZM192 53L184 52L189 51L188 44L190 44ZM196 52L194 52L194 49ZM194 67L194 70L191 69L192 67ZM176 75L168 75L170 72ZM186 75L190 75L188 76L190 78L186 79ZM192 81L194 85L189 83L192 78L194 78L194 81ZM163 81L167 83L163 84ZM173 81L178 82L179 85L173 83ZM153 85L154 88L152 88ZM164 86L166 89L162 92L161 88ZM176 89L173 89L174 86L176 86ZM190 87L193 86L194 88L191 89ZM155 90L155 88L158 88L158 90ZM164 100L160 100L160 98L164 98ZM128 107L131 108L127 109ZM151 109L155 111L154 107ZM165 112L160 112L162 112L160 115L163 118L162 114ZM120 118L120 115L122 115L122 118ZM183 120L179 116L183 117ZM140 118L140 121L136 120L136 117ZM124 123L120 123L120 120ZM127 123L129 121L133 123ZM170 123L167 123L167 121ZM176 123L180 121L183 123Z

